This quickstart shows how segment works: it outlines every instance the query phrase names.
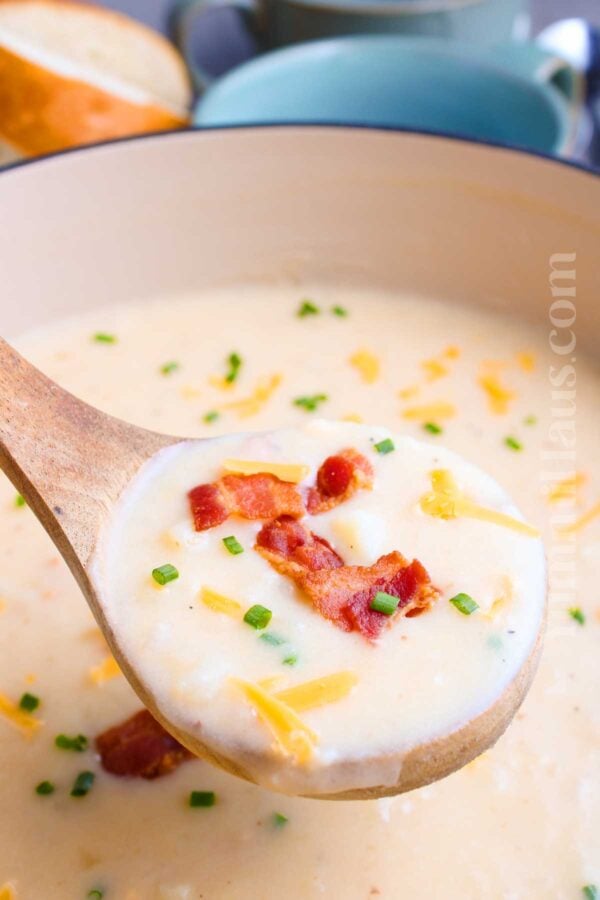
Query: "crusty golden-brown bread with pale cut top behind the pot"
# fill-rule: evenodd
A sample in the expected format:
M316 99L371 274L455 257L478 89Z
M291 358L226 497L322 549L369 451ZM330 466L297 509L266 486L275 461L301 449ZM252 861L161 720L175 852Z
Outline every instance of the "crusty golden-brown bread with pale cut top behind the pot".
M71 0L0 0L0 160L187 124L176 50Z

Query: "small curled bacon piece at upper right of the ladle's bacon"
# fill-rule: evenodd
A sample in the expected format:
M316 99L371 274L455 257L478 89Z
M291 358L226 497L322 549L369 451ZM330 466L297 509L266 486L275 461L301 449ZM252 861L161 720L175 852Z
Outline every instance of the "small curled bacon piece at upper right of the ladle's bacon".
M357 450L349 448L328 456L317 472L317 483L306 492L311 515L327 512L349 500L356 491L373 487L373 466Z

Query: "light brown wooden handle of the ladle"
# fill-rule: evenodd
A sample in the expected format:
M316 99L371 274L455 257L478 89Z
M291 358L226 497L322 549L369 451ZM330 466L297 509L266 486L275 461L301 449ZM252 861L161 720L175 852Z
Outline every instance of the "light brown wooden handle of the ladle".
M0 468L78 580L125 485L173 440L78 400L0 338Z

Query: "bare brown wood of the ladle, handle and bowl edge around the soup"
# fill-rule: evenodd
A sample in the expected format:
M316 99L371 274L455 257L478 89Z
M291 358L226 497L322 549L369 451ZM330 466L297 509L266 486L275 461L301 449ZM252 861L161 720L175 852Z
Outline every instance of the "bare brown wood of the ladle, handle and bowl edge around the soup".
M56 544L142 702L193 753L252 780L238 761L215 753L168 721L122 653L90 575L99 534L123 489L150 457L181 440L129 425L78 400L0 338L0 468ZM460 729L399 755L396 784L319 796L370 799L397 794L465 765L510 723L534 675L540 648L541 632L516 677L487 710Z

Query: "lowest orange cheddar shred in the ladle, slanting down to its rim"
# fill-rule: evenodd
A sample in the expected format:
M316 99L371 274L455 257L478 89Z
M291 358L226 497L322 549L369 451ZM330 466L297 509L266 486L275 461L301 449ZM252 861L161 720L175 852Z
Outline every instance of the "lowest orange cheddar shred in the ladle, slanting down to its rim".
M310 762L318 738L294 710L257 684L240 678L232 678L231 681L242 691L259 719L269 728L278 749L287 756L294 757L300 765Z

